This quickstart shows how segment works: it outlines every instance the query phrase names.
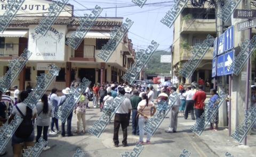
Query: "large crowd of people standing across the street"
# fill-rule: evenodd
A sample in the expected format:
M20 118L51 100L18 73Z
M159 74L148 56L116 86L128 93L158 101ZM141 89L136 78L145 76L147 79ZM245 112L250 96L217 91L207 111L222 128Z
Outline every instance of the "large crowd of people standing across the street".
M79 80L75 80L71 83L71 87L77 88ZM14 99L11 99L11 92L0 92L0 126L4 123L10 124L15 115L22 117L24 120L18 127L17 131L12 135L12 146L14 156L20 156L22 149L27 146L33 146L36 125L36 142L42 136L47 141L48 135L57 135L61 132L61 136L73 136L71 132L71 120L73 112L67 117L67 132L65 130L65 123L61 123L61 129L59 128L59 120L54 117L58 113L60 106L65 103L68 95L71 94L70 88L62 90L62 96L59 97L58 89L53 88L50 95L44 94L41 100L36 104L34 109L30 109L23 101L28 97L29 93L33 91L31 88L27 90L19 91L18 86L14 88ZM130 85L124 83L106 83L106 84L94 84L92 89L89 87L81 95L80 100L75 104L74 114L77 116L77 128L75 134L86 133L86 109L89 109L89 101L93 101L93 108L99 108L102 111L107 105L113 103L114 99L118 95L123 95L125 100L121 103L120 107L115 113L114 117L114 146L119 146L118 132L120 125L123 131L123 146L127 146L127 127L130 124L130 117L132 122L132 135L139 136L139 144L150 144L150 134L147 134L146 142L143 140L144 130L147 121L150 117L156 113L156 105L162 101L169 102L169 97L173 93L180 95L180 98L174 103L174 106L170 110L170 125L166 133L176 133L178 116L183 116L188 119L188 114L191 115L191 119L195 120L202 116L205 111L205 99L206 92L203 83L197 84L193 82L189 86L184 86L182 83L178 86L175 85L161 85L157 84L157 89L153 88L153 85L148 85L146 88L140 85ZM219 98L217 90L211 89L211 98L213 102L213 108ZM252 102L256 104L256 88L252 88ZM157 94L156 99L154 95ZM155 100L155 102L154 102ZM227 102L230 98L227 98ZM194 115L195 111L195 115ZM162 112L162 111L161 111ZM165 115L166 111L163 111ZM82 123L82 125L81 125ZM215 126L213 126L215 125ZM50 126L50 133L48 134ZM55 127L55 129L54 129ZM213 116L210 121L210 129L218 129L218 113ZM254 126L255 129L255 126ZM67 134L66 134L67 133ZM24 145L22 145L24 143ZM25 146L25 147L24 147ZM50 149L50 146L45 146L43 150ZM4 150L0 155L6 154Z

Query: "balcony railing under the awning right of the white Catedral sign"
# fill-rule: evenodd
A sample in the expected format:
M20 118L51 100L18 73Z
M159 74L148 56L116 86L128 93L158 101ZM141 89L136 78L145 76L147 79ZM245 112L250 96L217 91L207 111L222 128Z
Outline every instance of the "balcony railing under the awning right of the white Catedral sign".
M70 57L82 57L83 58L95 58L95 46L94 45L84 45L83 54L75 52L73 48L70 47L71 56Z

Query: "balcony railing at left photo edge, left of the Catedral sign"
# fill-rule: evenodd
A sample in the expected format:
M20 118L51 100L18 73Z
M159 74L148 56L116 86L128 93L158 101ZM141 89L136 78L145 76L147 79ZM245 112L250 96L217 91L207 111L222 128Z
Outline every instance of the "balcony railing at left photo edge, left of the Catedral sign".
M0 44L0 57L19 56L19 43Z

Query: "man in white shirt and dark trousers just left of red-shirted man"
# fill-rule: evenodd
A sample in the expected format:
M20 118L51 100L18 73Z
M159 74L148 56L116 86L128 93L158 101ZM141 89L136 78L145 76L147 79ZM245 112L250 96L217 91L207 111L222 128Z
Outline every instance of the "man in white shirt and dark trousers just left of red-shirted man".
M194 95L195 95L195 92L191 90L191 86L188 86L186 93L182 94L183 97L186 97L186 107L185 107L185 113L184 113L185 119L188 119L188 111L190 110L191 118L195 120L194 100L193 100Z

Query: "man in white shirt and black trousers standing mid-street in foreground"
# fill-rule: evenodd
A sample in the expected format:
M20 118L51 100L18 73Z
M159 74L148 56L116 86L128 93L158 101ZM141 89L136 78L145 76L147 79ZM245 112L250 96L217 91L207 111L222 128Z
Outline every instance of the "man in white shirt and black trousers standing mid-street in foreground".
M125 90L124 88L118 88L119 94L124 96ZM123 130L123 146L127 145L127 126L129 125L129 119L131 115L132 105L131 101L128 98L125 98L122 104L120 105L119 109L116 111L115 119L114 119L114 137L113 141L115 143L115 147L118 147L119 140L118 140L118 132L119 127L121 124Z

